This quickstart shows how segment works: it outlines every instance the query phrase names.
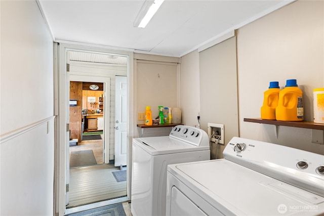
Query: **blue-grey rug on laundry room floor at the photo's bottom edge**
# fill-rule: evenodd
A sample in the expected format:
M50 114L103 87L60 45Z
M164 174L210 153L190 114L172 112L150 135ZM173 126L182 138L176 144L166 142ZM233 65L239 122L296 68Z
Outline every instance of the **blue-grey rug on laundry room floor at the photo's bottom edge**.
M72 213L72 214L67 214L67 215L71 215L71 216L81 216L81 215L85 215L85 216L126 216L126 213L124 211L123 208L123 204L121 203L117 203L117 204L113 204L113 205L107 205L107 206L103 206L100 208L94 208L94 209L90 209L90 210L86 210L86 211L82 211L82 212L78 212L78 213Z

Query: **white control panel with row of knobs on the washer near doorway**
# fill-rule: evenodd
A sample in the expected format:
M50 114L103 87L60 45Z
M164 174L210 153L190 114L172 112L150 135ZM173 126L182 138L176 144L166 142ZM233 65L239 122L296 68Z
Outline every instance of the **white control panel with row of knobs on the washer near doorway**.
M207 133L196 127L177 125L172 128L169 136L195 146L209 146Z

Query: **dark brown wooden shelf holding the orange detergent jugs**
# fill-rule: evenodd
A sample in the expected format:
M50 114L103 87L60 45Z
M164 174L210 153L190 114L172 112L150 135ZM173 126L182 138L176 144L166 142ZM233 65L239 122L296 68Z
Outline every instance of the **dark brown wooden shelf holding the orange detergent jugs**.
M281 126L288 126L288 127L318 129L324 131L324 124L317 124L312 121L277 121L277 120L265 120L261 118L244 118L244 121L262 123L262 124L273 124L277 126L281 125Z

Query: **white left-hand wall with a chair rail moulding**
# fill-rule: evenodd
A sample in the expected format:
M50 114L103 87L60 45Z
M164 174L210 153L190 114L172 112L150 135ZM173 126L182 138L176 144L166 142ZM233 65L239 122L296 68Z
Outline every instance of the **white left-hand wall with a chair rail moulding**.
M53 215L53 39L36 1L0 4L0 214Z

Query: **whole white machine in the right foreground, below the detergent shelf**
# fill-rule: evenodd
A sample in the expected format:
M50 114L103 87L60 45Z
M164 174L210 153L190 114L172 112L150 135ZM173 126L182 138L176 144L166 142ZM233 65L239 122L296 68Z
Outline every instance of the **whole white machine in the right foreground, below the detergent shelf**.
M324 215L324 156L234 137L224 159L168 166L166 215Z

